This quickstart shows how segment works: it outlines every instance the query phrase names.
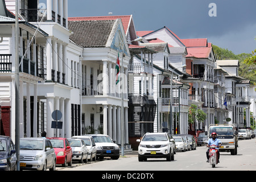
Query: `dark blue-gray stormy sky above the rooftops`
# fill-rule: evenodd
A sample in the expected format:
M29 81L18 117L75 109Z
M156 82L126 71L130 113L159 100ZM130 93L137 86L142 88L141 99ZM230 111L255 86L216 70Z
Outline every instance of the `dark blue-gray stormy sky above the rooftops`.
M256 49L255 9L255 0L68 1L69 17L133 15L136 31L166 26L181 39L208 38L235 54Z

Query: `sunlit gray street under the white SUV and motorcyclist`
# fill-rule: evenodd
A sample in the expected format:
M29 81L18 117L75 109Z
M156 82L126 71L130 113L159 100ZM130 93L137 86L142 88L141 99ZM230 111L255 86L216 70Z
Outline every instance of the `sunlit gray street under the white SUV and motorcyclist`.
M97 162L73 163L72 167L56 167L58 171L254 171L256 170L256 139L239 140L237 155L220 152L220 163L212 168L206 162L206 146L196 150L176 152L174 161L147 159L138 161L138 153L125 154L118 160L104 159Z

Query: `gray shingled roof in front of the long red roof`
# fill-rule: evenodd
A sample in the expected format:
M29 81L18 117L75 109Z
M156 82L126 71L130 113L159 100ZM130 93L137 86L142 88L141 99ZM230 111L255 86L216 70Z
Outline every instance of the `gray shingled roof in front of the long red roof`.
M68 28L73 32L69 37L82 47L105 47L115 20L69 21Z

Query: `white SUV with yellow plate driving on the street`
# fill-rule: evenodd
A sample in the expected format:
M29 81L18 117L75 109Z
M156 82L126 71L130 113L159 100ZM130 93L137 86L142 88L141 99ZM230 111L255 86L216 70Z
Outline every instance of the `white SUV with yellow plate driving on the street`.
M139 162L147 158L166 158L168 161L174 160L174 139L167 133L146 133L139 143Z

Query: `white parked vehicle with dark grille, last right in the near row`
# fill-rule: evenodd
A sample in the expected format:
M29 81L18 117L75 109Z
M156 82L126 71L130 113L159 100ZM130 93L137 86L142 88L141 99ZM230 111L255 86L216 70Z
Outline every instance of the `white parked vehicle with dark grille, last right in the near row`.
M104 159L110 157L114 160L119 159L120 150L119 146L113 142L109 135L90 134L97 146L97 158Z

